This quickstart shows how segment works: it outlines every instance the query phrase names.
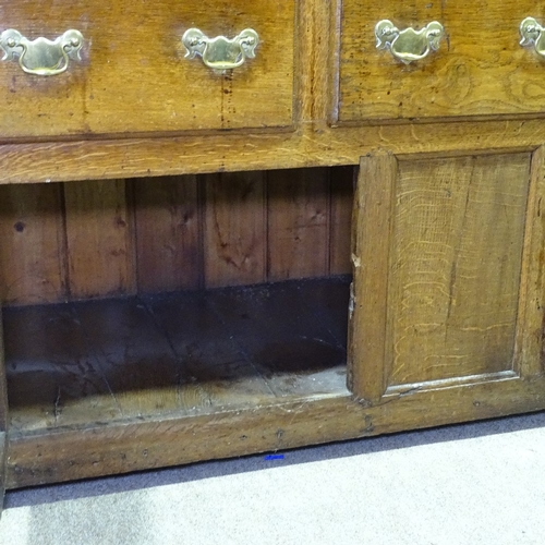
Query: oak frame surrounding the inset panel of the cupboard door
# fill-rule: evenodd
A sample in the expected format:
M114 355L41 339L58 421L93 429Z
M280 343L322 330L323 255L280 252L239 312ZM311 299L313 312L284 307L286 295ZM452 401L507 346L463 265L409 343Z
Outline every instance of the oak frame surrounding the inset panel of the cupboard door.
M519 154L521 149L491 150ZM526 152L526 150L524 150ZM458 156L483 154L460 153ZM452 157L452 154L445 154ZM542 348L545 306L545 146L531 152L529 194L522 245L521 277L511 370L387 387L390 253L392 251L396 183L399 162L441 157L434 153L396 156L379 150L361 158L352 217L353 284L349 325L349 388L373 405L391 399L494 383L496 395L512 380L543 375ZM391 301L390 301L391 304ZM493 393L494 392L494 393ZM424 400L423 400L424 401ZM429 410L433 410L429 408Z

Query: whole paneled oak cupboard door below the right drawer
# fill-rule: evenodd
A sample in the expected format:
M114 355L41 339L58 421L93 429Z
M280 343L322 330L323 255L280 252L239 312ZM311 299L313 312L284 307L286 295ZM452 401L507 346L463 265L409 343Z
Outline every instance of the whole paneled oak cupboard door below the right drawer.
M362 158L349 332L360 400L420 396L422 414L410 419L444 411L456 421L468 403L497 405L504 396L508 412L535 393L530 385L543 375L543 148Z

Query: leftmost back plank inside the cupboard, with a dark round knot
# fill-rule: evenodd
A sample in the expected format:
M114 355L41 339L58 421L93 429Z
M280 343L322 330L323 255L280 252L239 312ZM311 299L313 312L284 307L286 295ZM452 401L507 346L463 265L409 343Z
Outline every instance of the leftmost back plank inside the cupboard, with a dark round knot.
M61 187L0 187L0 289L4 303L47 303L65 296Z

